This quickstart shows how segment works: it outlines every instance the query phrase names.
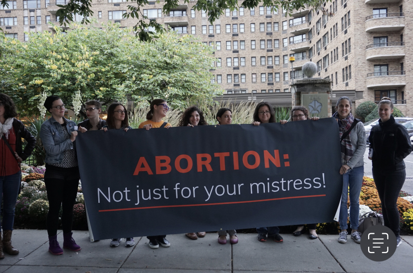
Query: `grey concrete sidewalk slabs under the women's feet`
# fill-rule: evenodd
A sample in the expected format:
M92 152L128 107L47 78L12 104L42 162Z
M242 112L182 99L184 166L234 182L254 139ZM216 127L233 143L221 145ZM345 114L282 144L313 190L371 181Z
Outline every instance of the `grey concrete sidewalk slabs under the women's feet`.
M168 235L171 247L150 249L146 237L135 238L135 246L117 248L110 240L89 242L87 231L74 231L73 238L82 247L78 253L64 250L53 256L47 252L45 230L14 230L12 245L20 254L5 255L0 272L6 273L291 273L355 272L412 273L413 236L385 262L367 259L360 245L348 237L347 244L337 242L338 235L294 237L282 234L283 243L259 242L257 234L238 234L239 243L219 245L217 233L190 240L184 234ZM63 235L58 234L60 246Z

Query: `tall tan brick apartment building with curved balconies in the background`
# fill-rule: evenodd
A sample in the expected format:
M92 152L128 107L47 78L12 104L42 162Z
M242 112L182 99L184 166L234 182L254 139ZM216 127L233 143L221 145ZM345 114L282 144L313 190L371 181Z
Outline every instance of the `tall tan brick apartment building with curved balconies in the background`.
M56 22L56 4L64 1L8 3L8 9L0 10L0 27L7 36L27 41L24 32L54 31L48 22ZM324 12L307 7L291 15L260 5L253 10L240 7L225 10L213 24L206 12L192 8L195 3L181 1L170 14L163 14L163 1L154 1L143 12L214 47L220 63L211 71L212 81L222 86L225 96L239 94L249 100L268 96L275 99L274 104L291 105L289 84L292 78L302 78L301 67L312 61L319 70L315 77L332 80L332 97L363 97L359 103L389 96L405 114L413 115L409 89L413 77L406 74L413 64L405 57L413 56L409 41L405 41L411 36L409 26L413 26L410 1L333 0L322 5ZM125 0L93 0L92 8L99 21L133 26L135 19L122 18L128 4ZM76 20L81 18L76 16ZM293 72L289 56L295 56Z

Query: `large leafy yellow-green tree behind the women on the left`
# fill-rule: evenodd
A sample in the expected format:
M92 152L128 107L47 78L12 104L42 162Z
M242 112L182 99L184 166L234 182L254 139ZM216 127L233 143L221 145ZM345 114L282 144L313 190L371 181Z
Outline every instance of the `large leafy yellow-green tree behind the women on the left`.
M102 28L102 29L100 29ZM131 35L131 28L111 22L71 31L33 33L29 42L0 33L0 91L12 96L20 110L38 113L41 94L55 94L73 106L81 101L147 101L163 97L175 108L222 94L211 84L216 59L212 49L192 35L165 32L153 43Z

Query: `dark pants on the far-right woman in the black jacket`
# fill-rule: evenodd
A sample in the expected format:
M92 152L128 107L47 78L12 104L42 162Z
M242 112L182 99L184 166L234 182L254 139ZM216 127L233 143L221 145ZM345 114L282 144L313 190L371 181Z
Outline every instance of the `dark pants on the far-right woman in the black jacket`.
M382 202L385 226L390 228L398 237L400 233L400 214L397 208L397 198L406 180L406 169L395 172L373 170L373 179Z

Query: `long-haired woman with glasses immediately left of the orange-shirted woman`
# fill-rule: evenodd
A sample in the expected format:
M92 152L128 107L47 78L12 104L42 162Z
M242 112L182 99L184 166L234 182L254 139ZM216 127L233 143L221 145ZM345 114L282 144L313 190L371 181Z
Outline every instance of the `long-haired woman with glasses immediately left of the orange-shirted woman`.
M128 112L121 103L114 102L108 107L108 117L106 118L106 125L102 127L105 132L109 129L124 130L127 132L132 129L128 122ZM110 242L111 247L118 247L122 238L113 238ZM133 237L125 238L125 247L132 247L135 245L135 240Z

